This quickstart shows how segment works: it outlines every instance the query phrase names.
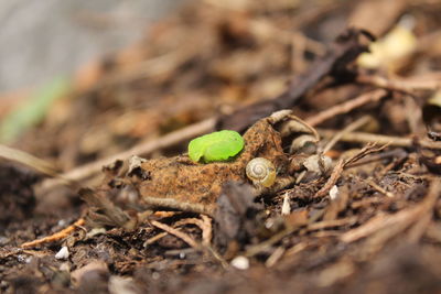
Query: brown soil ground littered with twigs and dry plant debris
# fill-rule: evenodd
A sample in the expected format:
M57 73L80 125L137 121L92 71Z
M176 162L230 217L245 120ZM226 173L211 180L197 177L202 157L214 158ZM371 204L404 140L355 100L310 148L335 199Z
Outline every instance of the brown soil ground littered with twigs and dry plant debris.
M0 291L441 292L440 13L194 1L86 64L0 149Z

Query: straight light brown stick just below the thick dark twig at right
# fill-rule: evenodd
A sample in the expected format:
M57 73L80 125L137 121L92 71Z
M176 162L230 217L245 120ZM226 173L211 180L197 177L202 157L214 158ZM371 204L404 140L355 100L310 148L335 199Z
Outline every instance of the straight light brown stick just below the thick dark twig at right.
M318 113L316 116L306 119L305 122L308 122L312 127L318 126L335 116L347 113L351 110L362 107L368 102L379 101L381 100L381 98L386 97L386 94L387 91L384 89L376 89L369 92L365 92L357 98L333 106L330 109L326 109Z

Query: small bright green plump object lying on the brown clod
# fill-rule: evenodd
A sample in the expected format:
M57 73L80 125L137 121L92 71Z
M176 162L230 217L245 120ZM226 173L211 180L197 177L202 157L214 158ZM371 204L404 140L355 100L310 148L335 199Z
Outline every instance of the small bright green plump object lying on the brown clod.
M238 132L213 132L190 141L189 156L194 162L201 159L206 163L228 161L244 149L244 138Z

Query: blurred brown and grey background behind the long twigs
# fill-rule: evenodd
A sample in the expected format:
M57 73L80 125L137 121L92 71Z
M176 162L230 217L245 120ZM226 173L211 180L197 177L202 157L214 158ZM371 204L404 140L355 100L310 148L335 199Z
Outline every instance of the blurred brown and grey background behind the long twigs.
M373 54L357 62L363 70L430 80L441 68L441 1L433 0L3 0L0 6L0 143L62 171L277 97L349 26L378 37ZM363 90L363 85L327 89L304 99L295 113L314 116ZM418 133L420 115L404 115L415 104L389 108L379 115L394 126L389 133ZM345 123L336 118L326 127ZM181 144L151 156L184 151Z

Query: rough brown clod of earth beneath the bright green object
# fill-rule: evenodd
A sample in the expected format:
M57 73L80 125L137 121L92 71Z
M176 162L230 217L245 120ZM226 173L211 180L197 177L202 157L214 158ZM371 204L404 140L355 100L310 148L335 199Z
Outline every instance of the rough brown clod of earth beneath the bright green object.
M224 184L249 182L247 164L252 159L263 157L275 165L277 178L273 185L256 185L255 193L276 193L294 179L290 155L283 152L282 135L276 130L288 123L290 117L291 112L283 110L257 121L244 134L245 148L234 161L202 164L186 155L153 159L140 162L128 173L122 168L117 171L119 176L107 178L106 183L110 183L110 187L116 187L115 183L131 186L141 203L149 206L213 215Z

